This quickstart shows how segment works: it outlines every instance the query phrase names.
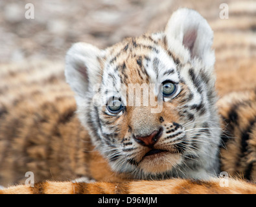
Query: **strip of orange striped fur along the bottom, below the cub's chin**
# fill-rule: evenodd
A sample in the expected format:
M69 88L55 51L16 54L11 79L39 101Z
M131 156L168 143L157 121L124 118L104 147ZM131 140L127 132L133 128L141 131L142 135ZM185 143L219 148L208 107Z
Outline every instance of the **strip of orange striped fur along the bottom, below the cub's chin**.
M220 186L220 179L210 180L140 180L130 182L39 182L34 187L12 186L0 193L22 194L255 194L255 184L244 180L229 179L227 187Z

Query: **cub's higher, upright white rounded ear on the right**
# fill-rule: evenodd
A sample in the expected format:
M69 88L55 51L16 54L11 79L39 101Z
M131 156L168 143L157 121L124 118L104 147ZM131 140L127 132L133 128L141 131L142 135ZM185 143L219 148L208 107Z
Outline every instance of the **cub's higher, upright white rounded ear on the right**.
M178 47L176 41L185 47L187 52L183 52L182 49L178 50L180 54L185 53L185 60L198 58L204 65L214 65L215 54L211 49L213 30L204 17L195 10L180 8L174 12L167 23L165 34L167 45L171 50L177 50L174 48Z

